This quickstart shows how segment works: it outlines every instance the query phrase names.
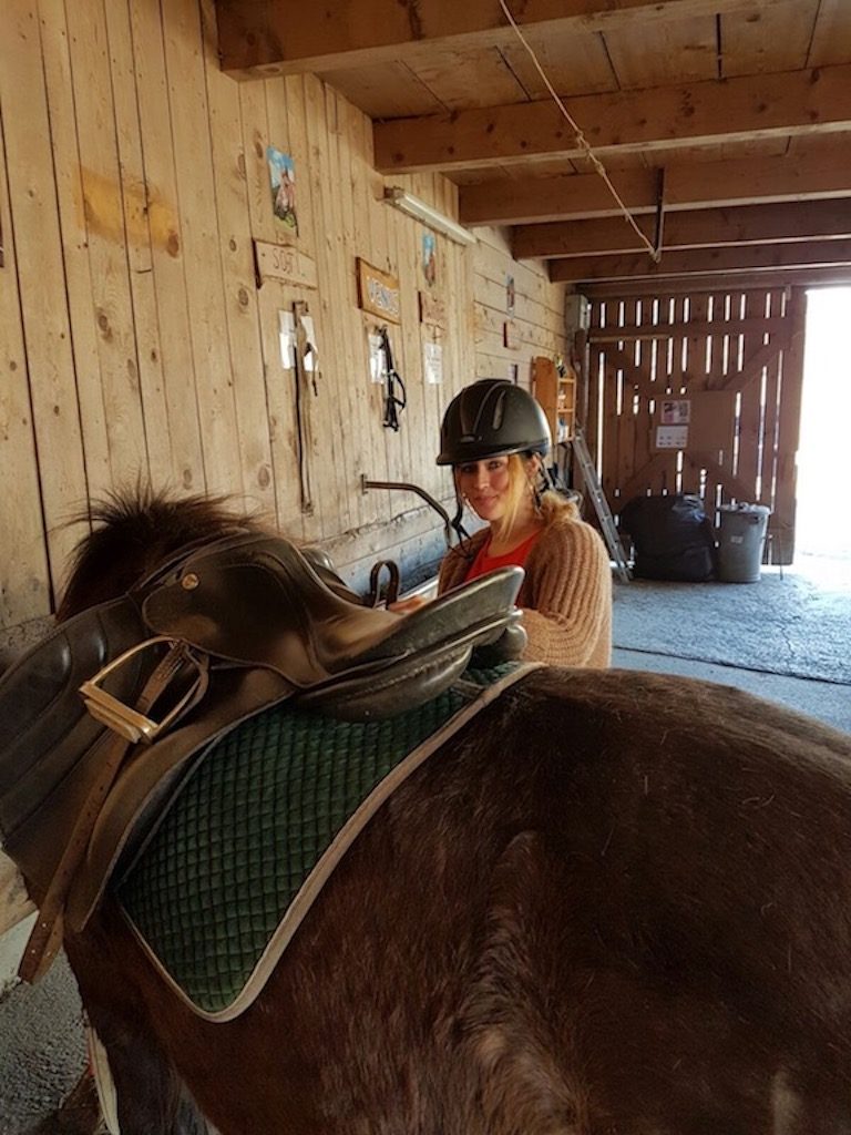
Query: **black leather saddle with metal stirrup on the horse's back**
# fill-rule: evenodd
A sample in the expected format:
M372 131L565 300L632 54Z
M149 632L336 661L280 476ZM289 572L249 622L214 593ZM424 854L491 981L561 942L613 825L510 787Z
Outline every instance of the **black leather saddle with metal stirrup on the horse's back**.
M517 657L522 579L502 569L402 615L288 540L239 533L58 627L0 678L0 833L43 932L85 926L140 818L253 714L288 698L390 716L452 684L473 648Z

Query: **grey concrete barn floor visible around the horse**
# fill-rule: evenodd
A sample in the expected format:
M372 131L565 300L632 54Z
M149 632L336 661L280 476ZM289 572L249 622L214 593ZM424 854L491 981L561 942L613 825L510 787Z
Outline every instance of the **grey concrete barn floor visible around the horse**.
M617 585L614 638L616 666L735 686L851 732L851 562L766 569L753 585ZM0 1000L0 1135L49 1125L84 1060L60 959Z

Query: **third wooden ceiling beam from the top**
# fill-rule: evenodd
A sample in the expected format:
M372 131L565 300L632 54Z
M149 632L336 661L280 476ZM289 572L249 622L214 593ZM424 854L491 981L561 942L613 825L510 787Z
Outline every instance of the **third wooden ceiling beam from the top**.
M812 201L851 196L848 141L835 153L798 158L745 158L665 167L667 213L713 205ZM635 213L656 209L655 169L614 170L612 182ZM571 217L615 217L621 210L597 174L528 177L462 185L458 211L464 225L528 225Z

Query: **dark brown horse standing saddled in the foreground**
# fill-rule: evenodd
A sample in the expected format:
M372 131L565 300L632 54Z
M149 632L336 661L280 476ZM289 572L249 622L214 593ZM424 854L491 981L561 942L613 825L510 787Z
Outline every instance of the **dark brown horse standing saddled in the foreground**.
M96 519L61 617L254 523ZM533 670L385 801L234 1019L115 897L66 931L123 1135L851 1132L849 758L728 687Z

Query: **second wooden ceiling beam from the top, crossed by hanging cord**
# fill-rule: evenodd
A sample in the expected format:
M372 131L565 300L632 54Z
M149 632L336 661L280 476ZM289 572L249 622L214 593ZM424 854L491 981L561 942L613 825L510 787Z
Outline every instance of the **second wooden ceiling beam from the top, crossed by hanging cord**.
M564 103L604 161L607 153L849 131L851 65L589 94ZM551 99L376 123L373 138L382 174L582 154Z

